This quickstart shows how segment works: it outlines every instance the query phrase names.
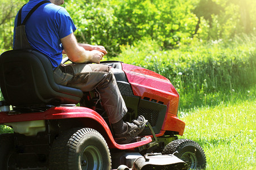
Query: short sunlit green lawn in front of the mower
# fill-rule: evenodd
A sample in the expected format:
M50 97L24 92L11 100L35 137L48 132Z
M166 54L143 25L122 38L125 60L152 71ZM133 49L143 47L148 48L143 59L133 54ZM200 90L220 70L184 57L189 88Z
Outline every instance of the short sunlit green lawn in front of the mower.
M207 169L256 169L255 118L255 99L191 109L182 138L204 148Z

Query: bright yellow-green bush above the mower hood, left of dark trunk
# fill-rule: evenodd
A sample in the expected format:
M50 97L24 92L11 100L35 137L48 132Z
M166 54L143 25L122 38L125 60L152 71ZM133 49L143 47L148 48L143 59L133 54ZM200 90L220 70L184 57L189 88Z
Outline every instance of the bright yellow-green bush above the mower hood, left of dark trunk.
M118 3L119 2L119 3ZM114 15L118 18L117 39L121 44L133 44L150 37L171 48L192 37L196 16L192 14L191 1L118 1Z

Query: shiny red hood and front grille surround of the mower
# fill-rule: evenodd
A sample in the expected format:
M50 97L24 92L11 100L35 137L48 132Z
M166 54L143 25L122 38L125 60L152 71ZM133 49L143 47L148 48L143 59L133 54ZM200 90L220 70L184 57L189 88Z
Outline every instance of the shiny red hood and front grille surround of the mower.
M179 94L169 79L142 67L122 63L133 93L142 99L167 105L166 116L162 126L164 131L176 131L183 135L185 123L177 118ZM159 134L159 135L160 135Z

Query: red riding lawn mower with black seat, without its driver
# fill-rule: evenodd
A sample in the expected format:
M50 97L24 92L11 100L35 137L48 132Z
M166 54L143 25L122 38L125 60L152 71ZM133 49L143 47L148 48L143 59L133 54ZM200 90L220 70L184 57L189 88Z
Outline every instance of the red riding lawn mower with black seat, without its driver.
M65 62L65 59L63 60ZM115 142L97 90L82 92L53 79L52 65L36 50L0 56L0 169L204 169L198 143L178 139L185 123L177 118L179 94L170 80L119 61L111 67L125 100L124 120L139 115L146 128L129 144Z

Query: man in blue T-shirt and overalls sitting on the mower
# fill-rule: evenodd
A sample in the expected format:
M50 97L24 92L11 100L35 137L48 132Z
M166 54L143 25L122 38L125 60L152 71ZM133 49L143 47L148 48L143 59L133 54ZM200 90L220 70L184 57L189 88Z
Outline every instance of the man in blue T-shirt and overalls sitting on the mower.
M63 0L43 2L27 18L31 9L40 2L42 0L30 0L21 10L21 19L18 15L16 16L14 49L18 48L20 39L22 41L25 39L19 38L22 31L19 29L19 24L17 25L25 20L26 36L24 37L27 37L27 44L49 58L54 69L55 82L80 88L82 91L91 91L96 88L101 95L117 142L120 144L131 142L144 129L146 120L143 116L139 116L131 123L123 122L122 118L127 109L112 71L106 65L85 64L89 61L100 63L102 57L107 54L106 49L104 46L77 43L73 34L76 27L68 12L59 6L64 3ZM78 64L60 64L63 50L72 62Z

